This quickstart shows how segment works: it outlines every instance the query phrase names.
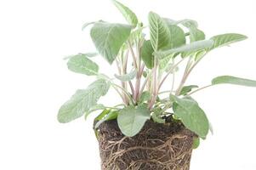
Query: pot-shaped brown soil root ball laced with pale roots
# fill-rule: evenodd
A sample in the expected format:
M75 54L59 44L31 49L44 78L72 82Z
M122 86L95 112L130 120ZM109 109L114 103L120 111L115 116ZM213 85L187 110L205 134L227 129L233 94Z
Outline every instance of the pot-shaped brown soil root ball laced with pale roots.
M193 138L182 123L152 121L136 136L125 137L117 120L100 125L102 170L189 170Z

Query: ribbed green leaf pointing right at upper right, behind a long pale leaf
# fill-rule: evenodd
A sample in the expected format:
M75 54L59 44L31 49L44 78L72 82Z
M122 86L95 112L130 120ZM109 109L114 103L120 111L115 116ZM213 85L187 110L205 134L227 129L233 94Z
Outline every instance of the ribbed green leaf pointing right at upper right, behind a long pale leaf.
M242 34L228 33L211 37L211 39L214 41L214 44L212 48L209 48L209 50L212 50L213 48L223 47L229 45L230 43L240 42L247 39L247 37Z

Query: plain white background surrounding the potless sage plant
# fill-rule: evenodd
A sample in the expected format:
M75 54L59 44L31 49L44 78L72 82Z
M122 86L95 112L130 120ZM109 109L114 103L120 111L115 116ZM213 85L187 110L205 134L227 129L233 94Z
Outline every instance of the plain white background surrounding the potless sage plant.
M247 41L219 48L192 72L188 83L213 77L256 79L254 0L123 0L146 23L153 10L174 20L193 19L208 37L238 32ZM91 116L60 124L56 114L92 77L68 71L63 58L94 51L84 22L125 22L108 0L0 1L0 169L100 170ZM105 62L104 62L105 63ZM101 71L111 72L105 63ZM170 82L168 82L170 83ZM214 134L194 151L191 170L255 170L256 88L220 85L196 94ZM108 95L114 104L117 95Z

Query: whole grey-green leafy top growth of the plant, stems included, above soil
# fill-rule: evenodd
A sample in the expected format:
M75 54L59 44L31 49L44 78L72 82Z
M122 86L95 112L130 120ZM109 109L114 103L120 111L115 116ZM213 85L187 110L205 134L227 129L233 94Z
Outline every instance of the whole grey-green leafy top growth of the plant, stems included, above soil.
M98 52L71 55L66 58L67 66L71 71L95 76L96 81L86 89L77 90L60 107L59 122L71 122L83 115L87 119L91 113L99 112L94 119L96 134L101 123L117 120L122 133L132 137L139 133L146 121L151 119L156 123L166 123L166 118L172 116L205 139L212 127L191 95L223 83L256 87L256 81L230 76L215 77L210 85L202 88L185 85L191 71L209 51L245 40L246 36L227 33L206 39L195 20L171 20L153 12L148 15L148 26L144 26L131 9L117 0L112 2L128 25L99 20L82 26L82 29L92 26L90 36ZM146 28L149 28L150 35L145 34ZM190 41L186 41L188 38ZM115 61L117 74L105 75L108 69L112 69L105 66L102 69L105 72L100 72L101 65L95 63L98 55L109 64ZM178 68L182 70L183 62L186 62L182 71L184 75L175 78L175 72ZM165 87L168 89L162 91L168 77L172 77L172 82L167 83ZM177 79L181 80L179 84L176 84ZM98 104L109 88L120 96L121 105L108 107ZM111 94L110 99L114 95ZM195 138L193 147L198 147L199 142L200 139Z

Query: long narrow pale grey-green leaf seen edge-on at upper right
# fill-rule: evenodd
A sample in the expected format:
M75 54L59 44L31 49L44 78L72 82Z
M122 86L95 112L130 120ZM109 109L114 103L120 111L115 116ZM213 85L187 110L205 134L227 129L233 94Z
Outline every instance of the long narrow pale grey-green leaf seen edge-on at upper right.
M173 48L165 51L155 52L156 55L160 57L166 57L169 54L177 54L177 53L191 53L196 52L205 48L211 48L213 46L213 40L202 40L197 42L191 42L190 44L186 44L179 48Z

